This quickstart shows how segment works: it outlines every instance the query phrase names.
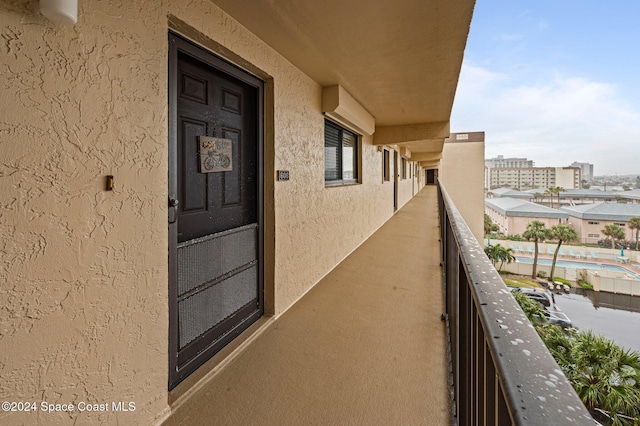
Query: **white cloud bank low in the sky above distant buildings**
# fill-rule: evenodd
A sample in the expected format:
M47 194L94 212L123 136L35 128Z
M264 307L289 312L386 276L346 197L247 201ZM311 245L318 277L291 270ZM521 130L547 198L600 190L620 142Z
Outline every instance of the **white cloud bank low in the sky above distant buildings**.
M640 110L612 84L548 74L514 84L515 77L465 62L452 131L484 130L487 157L528 157L537 166L586 161L597 175L640 173Z

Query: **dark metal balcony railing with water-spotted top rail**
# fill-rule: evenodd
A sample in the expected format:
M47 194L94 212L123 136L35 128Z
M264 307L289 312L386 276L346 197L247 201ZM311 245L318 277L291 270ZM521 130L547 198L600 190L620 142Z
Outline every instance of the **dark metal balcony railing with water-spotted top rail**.
M442 184L453 423L594 425Z

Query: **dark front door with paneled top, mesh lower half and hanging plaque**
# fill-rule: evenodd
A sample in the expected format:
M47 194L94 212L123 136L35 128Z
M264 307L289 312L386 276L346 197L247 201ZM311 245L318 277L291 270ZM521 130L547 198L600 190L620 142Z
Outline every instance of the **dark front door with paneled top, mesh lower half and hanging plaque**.
M263 313L262 82L175 35L169 50L171 388Z

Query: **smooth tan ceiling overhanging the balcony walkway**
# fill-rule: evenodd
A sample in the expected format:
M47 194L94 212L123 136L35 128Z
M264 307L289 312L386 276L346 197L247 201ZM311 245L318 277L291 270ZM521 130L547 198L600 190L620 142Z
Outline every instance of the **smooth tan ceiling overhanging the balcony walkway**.
M475 0L212 0L376 125L447 122Z

